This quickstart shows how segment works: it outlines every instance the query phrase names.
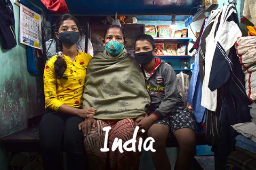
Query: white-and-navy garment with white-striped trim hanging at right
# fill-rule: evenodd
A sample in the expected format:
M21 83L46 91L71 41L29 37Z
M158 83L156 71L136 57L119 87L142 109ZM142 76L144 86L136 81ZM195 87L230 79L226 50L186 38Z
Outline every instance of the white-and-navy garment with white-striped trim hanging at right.
M210 68L209 89L211 91L218 89L229 79L231 73L229 68L232 66L228 58L229 50L241 36L235 5L223 6L219 28L215 36L217 48L213 53L212 67Z

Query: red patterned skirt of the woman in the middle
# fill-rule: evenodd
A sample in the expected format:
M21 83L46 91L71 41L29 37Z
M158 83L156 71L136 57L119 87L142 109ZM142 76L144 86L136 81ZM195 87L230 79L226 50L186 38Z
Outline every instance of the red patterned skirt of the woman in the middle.
M102 130L106 126L111 127L107 140L105 139L106 131ZM124 142L133 138L134 129L135 122L131 118L123 120L97 120L97 126L91 128L90 134L87 134L84 139L87 155L86 164L89 166L89 169L139 169L141 152L138 151L138 143L142 134L137 134L136 152L126 151L123 148ZM123 152L121 149L121 152L119 151L119 147L113 148L115 149L114 151L112 150L115 138L122 140ZM105 140L108 143L105 143ZM106 147L105 145L107 145L109 151L102 152L100 149ZM131 146L129 144L127 148Z

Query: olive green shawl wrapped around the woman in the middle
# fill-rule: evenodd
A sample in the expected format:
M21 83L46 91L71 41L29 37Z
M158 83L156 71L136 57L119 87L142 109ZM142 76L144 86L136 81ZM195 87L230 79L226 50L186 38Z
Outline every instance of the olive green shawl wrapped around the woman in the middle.
M139 64L124 49L115 57L95 55L87 66L83 107L97 109L95 118L113 120L145 115L150 97Z

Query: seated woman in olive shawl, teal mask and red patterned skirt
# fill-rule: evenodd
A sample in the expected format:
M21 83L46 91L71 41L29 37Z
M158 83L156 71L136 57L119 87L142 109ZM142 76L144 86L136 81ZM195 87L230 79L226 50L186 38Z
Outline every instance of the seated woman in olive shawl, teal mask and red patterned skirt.
M97 111L94 117L78 126L85 135L87 164L89 169L138 169L138 150L121 153L119 149L112 151L111 146L115 138L123 143L132 139L135 119L145 116L150 97L139 64L124 49L126 40L122 28L111 25L104 37L105 50L95 55L87 66L83 94L83 107ZM106 134L102 128L106 126L111 127L107 145L110 150L101 152ZM136 148L140 135L136 138Z

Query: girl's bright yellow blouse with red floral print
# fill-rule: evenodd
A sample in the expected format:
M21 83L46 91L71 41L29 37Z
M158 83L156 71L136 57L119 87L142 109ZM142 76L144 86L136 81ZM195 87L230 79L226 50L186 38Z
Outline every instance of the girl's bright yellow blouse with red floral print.
M63 73L63 76L67 76L67 80L57 79L55 75L56 56L50 58L44 68L45 108L53 111L58 111L62 104L72 107L83 105L85 74L87 64L92 57L89 54L78 52L74 61L65 55L62 58L67 63L67 69Z

